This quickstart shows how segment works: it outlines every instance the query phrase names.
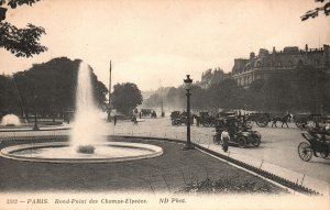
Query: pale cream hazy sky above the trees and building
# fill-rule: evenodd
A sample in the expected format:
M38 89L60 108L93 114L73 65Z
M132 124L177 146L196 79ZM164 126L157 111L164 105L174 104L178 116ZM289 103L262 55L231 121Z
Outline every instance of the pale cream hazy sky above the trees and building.
M32 58L0 48L0 73L26 70L33 64L66 56L89 64L109 86L134 82L141 90L179 86L186 75L231 71L234 58L260 48L305 48L330 44L330 16L301 22L320 3L314 0L41 0L7 12L23 27L43 26L48 51Z

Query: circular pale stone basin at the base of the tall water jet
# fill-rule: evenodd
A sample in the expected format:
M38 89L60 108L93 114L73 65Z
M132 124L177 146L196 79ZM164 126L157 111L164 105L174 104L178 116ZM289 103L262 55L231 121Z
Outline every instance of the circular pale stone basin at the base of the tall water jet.
M108 163L156 157L160 146L142 143L109 142L96 144L94 154L77 153L67 142L21 144L2 148L6 158L48 163Z

